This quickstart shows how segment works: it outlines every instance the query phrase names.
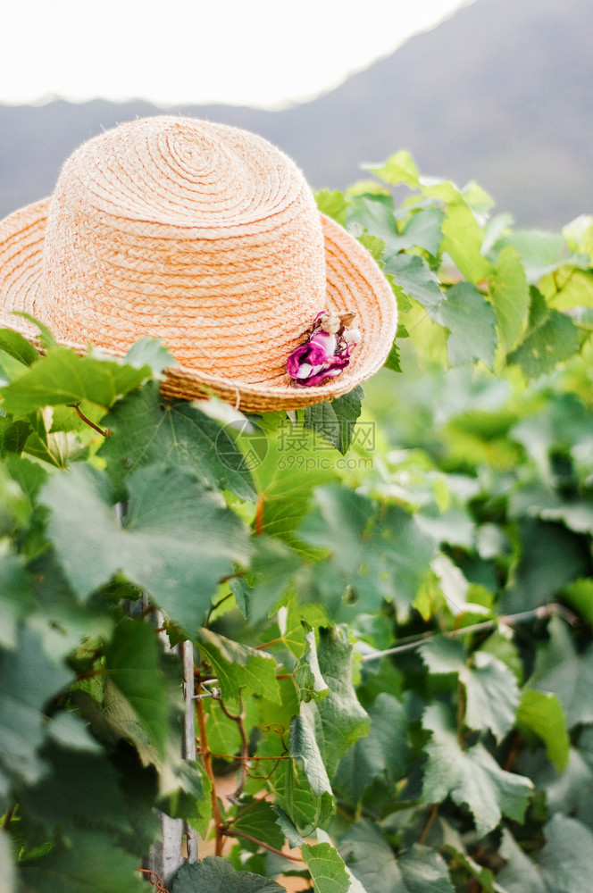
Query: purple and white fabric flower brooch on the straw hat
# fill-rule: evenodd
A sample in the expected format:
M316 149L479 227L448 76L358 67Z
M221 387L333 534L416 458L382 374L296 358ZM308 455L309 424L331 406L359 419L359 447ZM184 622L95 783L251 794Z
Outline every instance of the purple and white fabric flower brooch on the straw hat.
M295 384L321 385L346 369L350 353L361 339L360 330L347 328L355 315L327 310L317 314L305 344L288 356L287 371Z

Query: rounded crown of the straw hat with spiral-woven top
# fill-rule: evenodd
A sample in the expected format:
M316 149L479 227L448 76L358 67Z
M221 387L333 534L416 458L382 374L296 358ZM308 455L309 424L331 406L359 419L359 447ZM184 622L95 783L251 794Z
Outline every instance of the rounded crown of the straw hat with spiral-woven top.
M296 165L188 118L123 124L71 155L44 264L58 338L125 351L161 337L183 365L235 380L285 381L325 304L322 225Z

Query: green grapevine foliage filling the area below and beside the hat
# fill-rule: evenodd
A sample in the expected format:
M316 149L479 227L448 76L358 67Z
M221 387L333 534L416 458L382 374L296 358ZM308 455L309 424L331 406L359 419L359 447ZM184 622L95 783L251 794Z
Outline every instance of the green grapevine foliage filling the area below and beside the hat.
M588 888L593 220L370 172L318 195L400 308L366 396L246 418L158 342L0 333L7 893L140 889L155 808L215 838L173 893Z

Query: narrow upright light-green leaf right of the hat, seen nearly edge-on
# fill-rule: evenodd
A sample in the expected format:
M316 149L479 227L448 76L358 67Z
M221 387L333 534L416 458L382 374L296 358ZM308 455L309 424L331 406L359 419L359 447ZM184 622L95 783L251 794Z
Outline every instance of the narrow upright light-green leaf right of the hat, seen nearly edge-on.
M527 325L530 293L523 265L513 246L503 248L489 276L489 296L505 354L521 341Z

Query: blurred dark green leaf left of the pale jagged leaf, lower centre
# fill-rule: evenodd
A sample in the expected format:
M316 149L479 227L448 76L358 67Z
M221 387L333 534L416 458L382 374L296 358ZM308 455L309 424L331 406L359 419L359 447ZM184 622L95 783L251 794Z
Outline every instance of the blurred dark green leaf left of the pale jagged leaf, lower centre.
M404 706L392 695L381 692L367 713L371 719L369 734L347 751L333 781L334 788L355 805L376 779L392 790L405 776L409 760Z

